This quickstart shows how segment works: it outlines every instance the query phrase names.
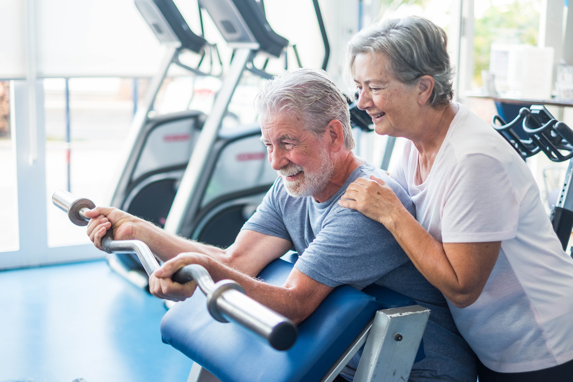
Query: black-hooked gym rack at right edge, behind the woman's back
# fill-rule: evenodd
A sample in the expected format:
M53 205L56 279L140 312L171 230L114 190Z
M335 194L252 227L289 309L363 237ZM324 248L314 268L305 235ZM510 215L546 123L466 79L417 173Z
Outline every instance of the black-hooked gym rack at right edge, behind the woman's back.
M497 122L502 125L497 125ZM508 141L523 158L543 151L553 162L564 162L573 157L573 131L565 123L557 121L543 105L521 108L519 115L510 123L500 116L493 116L492 127ZM529 140L520 139L515 129L521 128ZM551 224L563 250L573 229L573 162L569 162L565 180L559 192L558 202L551 210Z

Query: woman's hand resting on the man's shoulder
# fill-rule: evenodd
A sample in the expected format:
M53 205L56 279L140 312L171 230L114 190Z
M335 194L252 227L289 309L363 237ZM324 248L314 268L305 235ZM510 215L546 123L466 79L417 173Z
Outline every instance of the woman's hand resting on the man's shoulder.
M370 179L358 178L348 185L338 204L362 212L391 230L396 217L407 210L394 190L380 178L371 175ZM408 212L409 214L409 212Z

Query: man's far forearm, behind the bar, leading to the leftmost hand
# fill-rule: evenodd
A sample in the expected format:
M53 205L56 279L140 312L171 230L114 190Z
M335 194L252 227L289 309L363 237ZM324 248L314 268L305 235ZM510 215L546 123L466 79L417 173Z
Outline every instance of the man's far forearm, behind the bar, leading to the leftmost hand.
M218 247L172 235L145 220L138 220L136 225L134 239L146 243L152 253L163 261L174 258L183 252L196 252L208 255L219 262L226 263L225 250Z

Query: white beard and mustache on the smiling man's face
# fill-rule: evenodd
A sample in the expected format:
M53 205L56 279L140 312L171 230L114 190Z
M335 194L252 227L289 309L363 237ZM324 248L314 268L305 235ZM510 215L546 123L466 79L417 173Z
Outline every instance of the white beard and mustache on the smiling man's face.
M334 172L334 164L326 149L320 153L319 158L320 167L316 171L304 171L303 167L295 163L289 163L277 171L278 176L282 177L286 192L293 198L312 196L327 186ZM303 174L299 175L297 179L286 180L286 176L295 175L301 171Z

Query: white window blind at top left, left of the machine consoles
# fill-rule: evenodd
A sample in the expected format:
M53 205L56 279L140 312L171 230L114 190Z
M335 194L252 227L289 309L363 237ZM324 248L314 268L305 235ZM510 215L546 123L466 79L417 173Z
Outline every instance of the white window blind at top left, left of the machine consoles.
M34 0L39 77L151 76L164 48L133 0ZM0 1L0 78L26 76L26 1Z

